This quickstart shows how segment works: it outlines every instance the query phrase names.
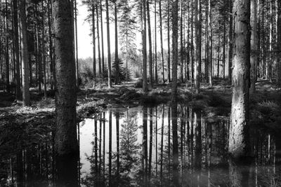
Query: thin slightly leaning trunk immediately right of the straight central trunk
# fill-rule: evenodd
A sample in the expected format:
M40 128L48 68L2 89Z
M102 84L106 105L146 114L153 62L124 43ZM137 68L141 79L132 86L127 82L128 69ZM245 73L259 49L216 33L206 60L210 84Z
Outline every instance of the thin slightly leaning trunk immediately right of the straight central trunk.
M150 25L150 8L149 1L146 1L146 8L148 11L148 52L149 52L149 71L150 71L150 87L153 87L153 71L152 71L152 36L151 36L151 25Z

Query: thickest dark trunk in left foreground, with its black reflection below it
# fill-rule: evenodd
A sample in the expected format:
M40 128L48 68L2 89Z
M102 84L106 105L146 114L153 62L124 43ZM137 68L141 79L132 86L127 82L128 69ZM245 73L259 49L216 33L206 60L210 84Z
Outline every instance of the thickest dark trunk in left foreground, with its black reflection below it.
M72 3L53 0L53 29L57 92L55 99L55 158L58 186L78 186L76 79Z

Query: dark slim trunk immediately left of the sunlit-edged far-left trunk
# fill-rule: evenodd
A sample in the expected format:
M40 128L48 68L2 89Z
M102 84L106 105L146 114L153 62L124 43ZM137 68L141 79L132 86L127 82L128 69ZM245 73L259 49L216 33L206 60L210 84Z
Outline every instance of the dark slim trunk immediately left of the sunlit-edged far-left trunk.
M18 1L13 0L13 39L15 43L15 97L21 99L20 92L20 48L18 41Z

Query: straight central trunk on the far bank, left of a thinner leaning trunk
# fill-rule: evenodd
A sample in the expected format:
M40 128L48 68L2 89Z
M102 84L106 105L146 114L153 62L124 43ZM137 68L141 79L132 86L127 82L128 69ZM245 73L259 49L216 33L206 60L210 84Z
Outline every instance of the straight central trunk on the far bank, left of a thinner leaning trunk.
M143 0L143 92L148 92L147 51L146 51L146 0Z

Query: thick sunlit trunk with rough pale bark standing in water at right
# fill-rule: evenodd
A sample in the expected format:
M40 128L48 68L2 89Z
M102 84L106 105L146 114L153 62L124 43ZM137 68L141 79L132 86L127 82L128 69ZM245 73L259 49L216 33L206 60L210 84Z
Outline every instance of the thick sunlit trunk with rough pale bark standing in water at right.
M250 1L235 0L233 99L228 151L234 158L249 153Z

